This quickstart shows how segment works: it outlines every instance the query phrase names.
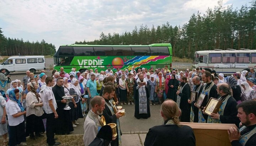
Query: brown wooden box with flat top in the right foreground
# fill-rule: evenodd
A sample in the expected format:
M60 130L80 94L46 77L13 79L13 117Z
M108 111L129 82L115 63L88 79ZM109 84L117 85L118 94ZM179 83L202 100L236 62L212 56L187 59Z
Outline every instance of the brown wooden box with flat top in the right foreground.
M187 123L194 130L196 146L231 146L228 138L228 129L236 127L235 124Z

